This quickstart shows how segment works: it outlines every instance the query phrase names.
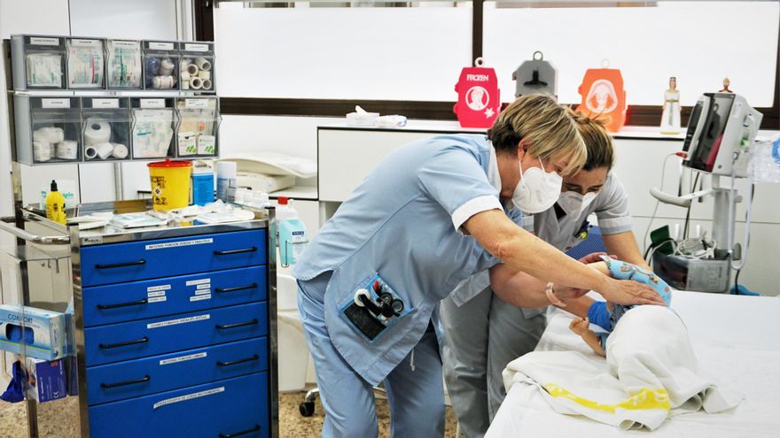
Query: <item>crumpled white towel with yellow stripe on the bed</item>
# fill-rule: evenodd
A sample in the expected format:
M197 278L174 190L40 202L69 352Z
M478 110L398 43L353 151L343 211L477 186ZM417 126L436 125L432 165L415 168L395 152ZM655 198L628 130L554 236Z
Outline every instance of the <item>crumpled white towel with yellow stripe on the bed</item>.
M621 429L659 427L667 417L737 406L743 396L719 388L698 368L683 321L666 307L628 311L606 342L606 360L575 351L534 351L503 371L506 388L539 388L555 411Z

